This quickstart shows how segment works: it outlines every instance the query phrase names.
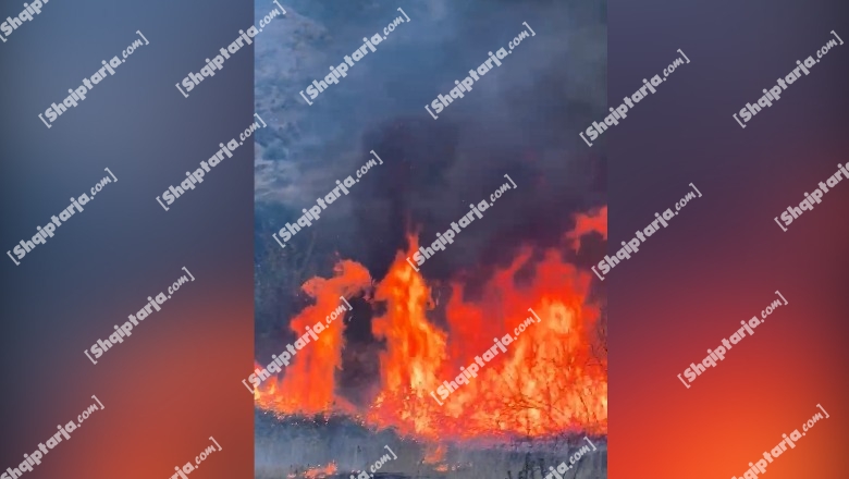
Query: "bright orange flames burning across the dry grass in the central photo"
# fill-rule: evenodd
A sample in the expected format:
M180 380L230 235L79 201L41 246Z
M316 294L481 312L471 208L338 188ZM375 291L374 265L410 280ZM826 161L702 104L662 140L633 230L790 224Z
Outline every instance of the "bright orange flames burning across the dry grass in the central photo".
M579 214L576 231L563 236L562 249L574 248L575 240L590 231L606 237L602 218L606 220L606 208ZM456 279L450 282L447 303L438 305L431 294L435 285L405 261L418 249L418 240L410 234L407 242L408 251L397 253L376 285L365 267L347 260L337 265L333 278L309 280L304 291L316 305L292 320L294 331L303 334L307 324L336 306L340 295L373 293L369 300L385 305L385 312L372 318L372 334L385 341L385 348L380 354L379 392L370 406L358 409L334 394L334 371L344 347L345 322L339 321L317 344L298 352L283 378L270 378L256 391L259 408L281 415L347 414L370 427L393 427L428 440L607 432L606 357L592 353L600 308L588 302L591 272L564 261L561 249L540 255L524 248L476 291L473 302L464 297L467 285ZM527 274L529 267L532 274ZM522 280L517 281L520 270ZM513 334L528 308L542 321L443 406L436 404L430 393L492 347L494 337ZM438 314L444 316L445 328L429 320Z

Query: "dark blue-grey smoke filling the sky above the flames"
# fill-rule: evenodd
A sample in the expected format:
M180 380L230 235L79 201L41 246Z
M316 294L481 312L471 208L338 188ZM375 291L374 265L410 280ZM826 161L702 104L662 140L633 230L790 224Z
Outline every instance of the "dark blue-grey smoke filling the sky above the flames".
M328 275L342 257L362 262L380 280L406 248L408 229L430 244L470 202L489 199L507 183L505 173L518 188L429 259L422 267L427 278L464 271L479 283L522 244L540 249L559 244L575 212L606 201L603 145L588 148L578 136L606 111L603 1L298 0L285 7L286 19L256 41L257 112L270 126L257 135L258 357L291 339L287 318L304 300L291 299L298 278ZM299 91L342 62L364 36L401 16L397 7L411 22L398 25L307 106ZM258 14L268 9L257 3ZM507 49L527 29L522 22L536 36L434 121L424 106L447 95L488 52ZM336 180L354 174L372 149L384 164L282 250L271 234L294 222ZM295 260L295 251L310 256ZM366 342L368 330L364 321L346 334ZM264 347L263 339L273 346Z

